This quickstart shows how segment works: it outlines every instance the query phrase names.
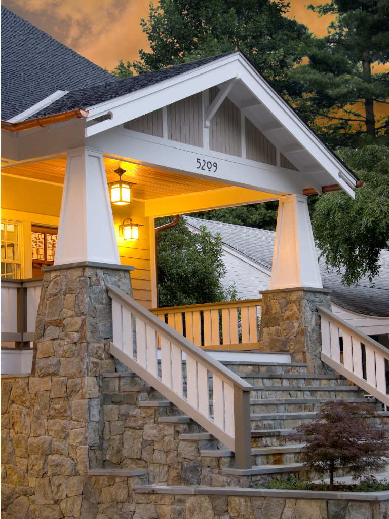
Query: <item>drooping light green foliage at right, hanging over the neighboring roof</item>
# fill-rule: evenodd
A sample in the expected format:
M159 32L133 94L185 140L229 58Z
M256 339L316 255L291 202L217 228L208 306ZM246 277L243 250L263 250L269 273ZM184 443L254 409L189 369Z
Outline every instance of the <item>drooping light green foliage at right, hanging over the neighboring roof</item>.
M355 200L343 191L316 201L312 216L315 240L328 269L347 285L379 274L381 249L389 240L389 148L368 145L337 154L365 182L354 189Z

